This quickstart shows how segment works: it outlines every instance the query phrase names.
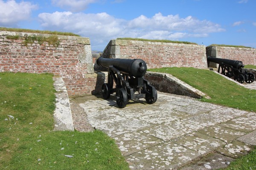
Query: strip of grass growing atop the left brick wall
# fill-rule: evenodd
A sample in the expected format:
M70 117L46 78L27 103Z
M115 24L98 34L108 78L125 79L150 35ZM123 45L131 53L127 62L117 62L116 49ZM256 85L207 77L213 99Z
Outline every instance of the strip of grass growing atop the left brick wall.
M73 34L73 33L71 33L71 32L41 31L41 30L22 29L22 28L6 28L6 27L0 27L0 31L13 31L13 32L26 32L26 33L51 34L51 35L66 35L66 36L76 36L76 37L80 37L80 35Z

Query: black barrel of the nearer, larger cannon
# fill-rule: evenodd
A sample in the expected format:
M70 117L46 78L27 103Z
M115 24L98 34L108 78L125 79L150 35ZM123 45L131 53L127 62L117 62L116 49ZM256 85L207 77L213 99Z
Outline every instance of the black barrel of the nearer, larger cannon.
M100 57L96 62L98 65L107 68L113 65L122 73L134 77L143 77L147 71L147 64L142 59L109 59Z

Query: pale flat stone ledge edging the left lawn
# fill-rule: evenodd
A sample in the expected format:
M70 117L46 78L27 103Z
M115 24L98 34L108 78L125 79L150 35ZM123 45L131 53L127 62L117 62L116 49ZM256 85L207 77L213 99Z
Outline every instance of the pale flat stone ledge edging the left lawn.
M56 108L54 111L54 130L74 130L73 119L70 109L70 100L65 83L61 77L53 77L56 90Z

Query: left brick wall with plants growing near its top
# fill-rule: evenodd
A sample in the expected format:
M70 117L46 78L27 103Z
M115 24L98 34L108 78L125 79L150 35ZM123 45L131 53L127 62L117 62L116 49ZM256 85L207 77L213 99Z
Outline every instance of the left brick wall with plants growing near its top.
M96 82L101 82L102 77L94 73L89 38L58 36L59 45L55 47L38 41L25 45L24 39L29 36L50 35L0 31L0 72L61 76L70 96L99 91Z

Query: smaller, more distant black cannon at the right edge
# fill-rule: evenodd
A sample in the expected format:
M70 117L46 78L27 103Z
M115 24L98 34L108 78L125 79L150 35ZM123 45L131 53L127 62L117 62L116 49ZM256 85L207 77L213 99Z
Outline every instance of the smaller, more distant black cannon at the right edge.
M248 73L244 69L243 62L232 59L221 59L216 57L207 57L207 62L215 62L218 63L218 73L224 76L230 77L236 80L239 83L252 83L254 82L254 74Z

